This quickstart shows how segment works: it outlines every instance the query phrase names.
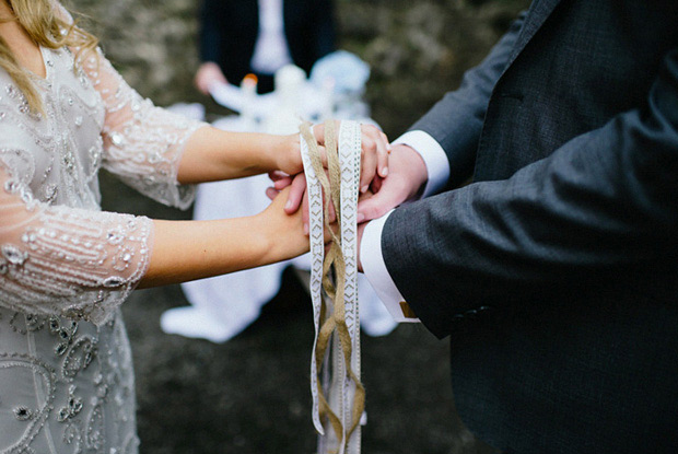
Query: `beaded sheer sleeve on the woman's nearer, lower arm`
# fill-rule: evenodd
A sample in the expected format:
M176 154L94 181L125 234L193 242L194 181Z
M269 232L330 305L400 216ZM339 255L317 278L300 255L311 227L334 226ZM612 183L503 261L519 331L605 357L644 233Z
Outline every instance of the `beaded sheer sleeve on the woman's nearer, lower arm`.
M0 305L106 322L147 270L151 220L39 202L21 158L0 152Z

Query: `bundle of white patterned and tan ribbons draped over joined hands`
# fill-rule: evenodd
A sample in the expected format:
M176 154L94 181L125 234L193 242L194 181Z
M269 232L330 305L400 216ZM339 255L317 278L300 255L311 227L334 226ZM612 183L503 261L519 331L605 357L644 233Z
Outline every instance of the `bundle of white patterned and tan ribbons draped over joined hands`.
M309 200L309 290L316 329L311 362L311 389L314 400L313 421L320 434L318 453L359 454L360 420L365 401L364 387L360 383L355 261L361 130L359 124L343 121L337 141L335 123L325 124L328 161L326 175L309 125L304 124L300 129ZM325 207L323 189L326 195ZM329 228L329 203L334 205L337 213L339 234L335 234ZM324 245L325 229L332 238L327 255ZM334 282L331 276L335 278ZM323 299L323 290L327 299ZM331 361L328 353L330 342ZM330 365L331 380L328 379ZM318 377L320 371L327 377L325 381Z

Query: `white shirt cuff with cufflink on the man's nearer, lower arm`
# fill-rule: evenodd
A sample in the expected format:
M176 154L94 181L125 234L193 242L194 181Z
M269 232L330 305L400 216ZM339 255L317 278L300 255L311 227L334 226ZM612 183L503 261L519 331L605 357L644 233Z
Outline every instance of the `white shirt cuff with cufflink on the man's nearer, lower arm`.
M382 218L367 222L367 225L365 225L360 243L360 261L362 263L365 277L394 321L416 323L419 322L419 318L412 317L412 314L404 313L404 307L407 311L409 306L388 273L384 257L382 256L382 230L384 230L386 219L388 219L391 212L393 210ZM407 315L410 316L408 317Z

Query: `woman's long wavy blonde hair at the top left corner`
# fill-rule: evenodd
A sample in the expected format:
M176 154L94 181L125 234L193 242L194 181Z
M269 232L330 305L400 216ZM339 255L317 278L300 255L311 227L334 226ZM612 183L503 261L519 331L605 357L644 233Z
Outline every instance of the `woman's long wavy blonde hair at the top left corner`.
M50 49L65 46L77 48L78 57L86 56L98 44L96 37L77 25L70 14L55 0L0 0L7 1L13 15L2 21L17 21L31 39ZM32 74L21 67L7 42L0 36L0 67L4 69L26 97L33 112L44 113L43 102ZM75 68L74 68L75 69Z

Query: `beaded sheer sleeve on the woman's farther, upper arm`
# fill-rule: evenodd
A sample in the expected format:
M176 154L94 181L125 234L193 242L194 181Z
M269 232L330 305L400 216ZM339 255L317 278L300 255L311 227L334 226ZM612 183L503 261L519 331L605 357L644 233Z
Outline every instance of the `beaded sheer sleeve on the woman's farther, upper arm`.
M180 185L177 171L188 138L204 123L187 119L142 98L98 50L82 67L104 101L103 167L141 194L188 208L195 186Z

